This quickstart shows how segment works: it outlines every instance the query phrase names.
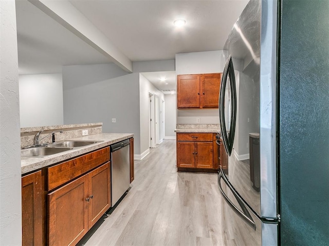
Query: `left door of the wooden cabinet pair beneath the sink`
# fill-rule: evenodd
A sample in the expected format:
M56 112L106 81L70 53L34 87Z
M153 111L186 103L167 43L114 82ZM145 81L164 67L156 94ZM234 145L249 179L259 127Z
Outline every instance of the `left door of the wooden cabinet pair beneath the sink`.
M48 194L49 245L75 245L88 231L88 177Z

